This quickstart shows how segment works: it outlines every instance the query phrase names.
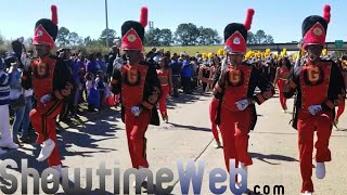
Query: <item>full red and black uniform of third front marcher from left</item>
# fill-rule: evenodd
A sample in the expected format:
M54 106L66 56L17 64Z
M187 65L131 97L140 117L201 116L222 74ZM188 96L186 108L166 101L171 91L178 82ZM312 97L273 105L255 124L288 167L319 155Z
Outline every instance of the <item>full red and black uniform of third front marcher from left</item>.
M261 92L254 94L258 87ZM249 130L255 128L257 113L254 104L244 110L239 110L236 102L243 99L254 100L258 105L274 94L271 82L261 76L252 65L229 66L215 87L220 99L220 128L223 139L226 165L229 170L229 159L234 158L246 166L253 165L248 155Z

